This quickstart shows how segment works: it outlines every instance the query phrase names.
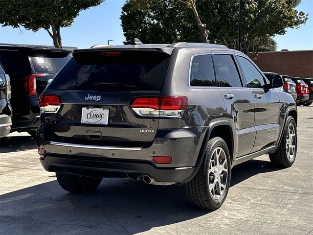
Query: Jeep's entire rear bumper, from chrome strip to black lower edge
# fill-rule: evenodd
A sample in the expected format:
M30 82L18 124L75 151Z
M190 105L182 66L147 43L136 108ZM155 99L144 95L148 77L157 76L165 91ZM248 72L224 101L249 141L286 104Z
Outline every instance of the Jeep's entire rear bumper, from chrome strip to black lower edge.
M37 141L38 147L46 150L40 162L47 171L102 177L108 172L147 174L156 182L185 183L199 169L201 141L191 130L167 131L148 148L132 148L49 142L43 129L38 129ZM154 156L171 156L172 163L156 164Z

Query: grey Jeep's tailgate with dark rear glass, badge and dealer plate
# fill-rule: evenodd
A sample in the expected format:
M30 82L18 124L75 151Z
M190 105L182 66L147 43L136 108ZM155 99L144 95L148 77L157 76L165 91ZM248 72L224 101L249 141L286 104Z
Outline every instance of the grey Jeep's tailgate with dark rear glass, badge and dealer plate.
M60 95L62 103L58 114L46 115L46 139L124 147L151 145L158 118L141 118L130 103L134 97L161 94L169 59L169 54L151 50L74 52L45 91Z

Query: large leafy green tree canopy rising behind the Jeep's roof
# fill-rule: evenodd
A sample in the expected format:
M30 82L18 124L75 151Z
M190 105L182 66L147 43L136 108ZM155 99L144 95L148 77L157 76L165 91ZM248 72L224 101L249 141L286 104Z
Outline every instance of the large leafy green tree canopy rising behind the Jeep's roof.
M141 0L136 5L138 1L127 0L122 8L126 42L134 37L147 43L203 42L195 16L190 6L184 4L189 0ZM301 0L242 2L241 48L246 54L253 52L252 58L271 37L285 34L288 28L298 28L308 19L307 14L295 9ZM238 48L239 0L196 0L194 3L201 22L210 29L210 42Z

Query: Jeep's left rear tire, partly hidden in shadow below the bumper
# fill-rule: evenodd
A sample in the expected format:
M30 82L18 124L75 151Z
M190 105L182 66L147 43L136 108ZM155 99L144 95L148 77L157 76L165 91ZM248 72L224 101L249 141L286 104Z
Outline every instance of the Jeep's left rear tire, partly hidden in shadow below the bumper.
M55 173L59 185L69 192L84 193L94 191L101 183L102 178Z

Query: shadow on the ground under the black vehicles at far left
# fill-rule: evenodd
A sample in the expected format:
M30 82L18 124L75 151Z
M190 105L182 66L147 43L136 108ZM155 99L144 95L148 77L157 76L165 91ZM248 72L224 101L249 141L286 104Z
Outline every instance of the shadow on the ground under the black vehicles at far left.
M11 153L36 148L37 148L36 140L29 135L23 136L9 135L0 139L0 153Z

